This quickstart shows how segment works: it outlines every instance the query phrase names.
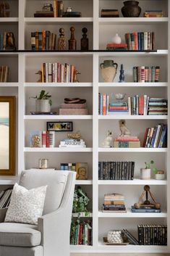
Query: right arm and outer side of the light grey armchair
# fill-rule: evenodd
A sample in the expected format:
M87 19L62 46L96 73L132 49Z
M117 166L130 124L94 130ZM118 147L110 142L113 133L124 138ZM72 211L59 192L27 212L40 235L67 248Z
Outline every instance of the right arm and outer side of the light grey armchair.
M75 173L69 175L72 178L69 179L69 184L66 186L59 209L38 218L43 256L69 256L69 231L75 190Z

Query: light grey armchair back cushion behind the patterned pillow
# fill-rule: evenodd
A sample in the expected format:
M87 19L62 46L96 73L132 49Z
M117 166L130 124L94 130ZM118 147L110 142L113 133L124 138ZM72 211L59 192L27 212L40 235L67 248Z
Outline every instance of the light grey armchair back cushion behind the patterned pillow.
M67 171L61 170L24 170L20 177L20 186L33 189L47 186L43 215L59 208L67 183Z

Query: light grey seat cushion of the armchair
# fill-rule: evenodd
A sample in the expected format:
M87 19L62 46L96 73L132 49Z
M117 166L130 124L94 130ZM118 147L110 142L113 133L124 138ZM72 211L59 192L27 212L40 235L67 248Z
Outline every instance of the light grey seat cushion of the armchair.
M0 223L0 245L33 247L41 243L37 226L23 223Z

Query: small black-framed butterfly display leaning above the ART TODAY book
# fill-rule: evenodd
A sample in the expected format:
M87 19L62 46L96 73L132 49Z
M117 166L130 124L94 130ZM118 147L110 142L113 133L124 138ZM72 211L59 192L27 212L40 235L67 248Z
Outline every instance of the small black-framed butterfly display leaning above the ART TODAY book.
M47 131L72 131L72 122L47 122Z

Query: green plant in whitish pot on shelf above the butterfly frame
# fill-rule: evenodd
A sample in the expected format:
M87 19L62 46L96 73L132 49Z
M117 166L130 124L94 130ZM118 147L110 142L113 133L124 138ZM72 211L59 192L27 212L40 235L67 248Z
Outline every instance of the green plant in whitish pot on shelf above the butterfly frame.
M49 92L42 90L39 95L31 97L35 100L35 111L36 112L51 112L51 95Z

